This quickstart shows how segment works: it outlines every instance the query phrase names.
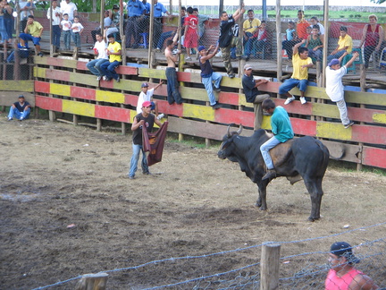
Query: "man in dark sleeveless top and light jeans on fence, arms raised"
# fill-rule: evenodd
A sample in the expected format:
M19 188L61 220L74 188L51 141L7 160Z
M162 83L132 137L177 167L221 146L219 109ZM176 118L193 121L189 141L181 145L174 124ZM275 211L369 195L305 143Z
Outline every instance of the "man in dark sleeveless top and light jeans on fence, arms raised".
M198 54L199 64L201 68L201 82L206 87L210 106L216 110L222 106L216 102L213 90L215 90L216 92L221 91L220 82L222 80L222 75L220 73L214 73L212 65L209 62L209 60L217 54L219 46L217 45L217 47L214 48L214 51L212 53L209 53L213 48L214 46L210 46L206 51L204 46L200 46L198 47Z

